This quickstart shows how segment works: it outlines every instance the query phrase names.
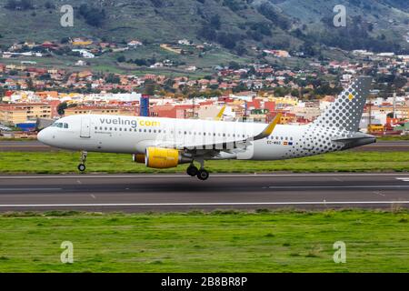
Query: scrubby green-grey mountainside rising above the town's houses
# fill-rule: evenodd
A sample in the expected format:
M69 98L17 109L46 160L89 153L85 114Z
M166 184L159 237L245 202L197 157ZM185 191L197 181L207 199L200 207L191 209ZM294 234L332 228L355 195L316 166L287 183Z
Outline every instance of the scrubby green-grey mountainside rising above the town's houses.
M75 26L62 27L59 7L75 8ZM333 7L347 7L347 27L334 28ZM303 50L407 51L405 0L5 0L0 45L85 36L106 41L138 38L147 44L187 38L217 43L235 55L254 45Z

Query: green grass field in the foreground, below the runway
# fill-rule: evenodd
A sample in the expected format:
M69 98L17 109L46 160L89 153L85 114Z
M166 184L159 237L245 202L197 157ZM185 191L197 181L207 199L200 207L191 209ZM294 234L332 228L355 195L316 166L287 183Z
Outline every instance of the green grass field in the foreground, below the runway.
M0 216L0 272L409 272L409 213ZM74 264L60 246L74 244ZM335 264L333 245L346 244Z

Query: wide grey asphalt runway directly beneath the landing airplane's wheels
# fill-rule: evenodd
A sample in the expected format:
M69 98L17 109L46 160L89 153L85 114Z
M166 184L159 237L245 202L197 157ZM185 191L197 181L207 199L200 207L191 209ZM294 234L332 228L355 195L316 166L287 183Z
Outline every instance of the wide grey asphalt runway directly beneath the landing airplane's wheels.
M0 176L0 211L409 207L409 174Z

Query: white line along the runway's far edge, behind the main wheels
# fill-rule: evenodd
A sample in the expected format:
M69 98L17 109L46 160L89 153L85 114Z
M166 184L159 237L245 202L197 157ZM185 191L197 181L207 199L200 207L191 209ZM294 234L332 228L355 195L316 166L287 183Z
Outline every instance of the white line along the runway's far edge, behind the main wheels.
M409 179L409 173L398 174L399 176L407 176ZM396 176L396 173L324 173L324 174L214 174L210 178L217 178L217 177L260 177L260 176ZM192 178L191 176L187 175L61 175L61 176L0 176L0 179L105 179L105 178L173 178L173 177L184 177L184 178Z

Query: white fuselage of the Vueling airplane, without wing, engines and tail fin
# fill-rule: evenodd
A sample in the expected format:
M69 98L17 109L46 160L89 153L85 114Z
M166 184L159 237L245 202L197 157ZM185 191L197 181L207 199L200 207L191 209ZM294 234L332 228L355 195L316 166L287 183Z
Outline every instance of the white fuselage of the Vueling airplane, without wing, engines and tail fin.
M188 146L227 145L263 131L265 124L138 117L124 115L73 115L61 118L58 125L45 128L38 139L49 146L89 152L145 154L149 146L183 149ZM342 131L325 131L315 150L311 125L276 125L274 132L241 149L219 151L211 159L276 160L312 156L344 145L332 138ZM318 139L318 136L316 137Z

